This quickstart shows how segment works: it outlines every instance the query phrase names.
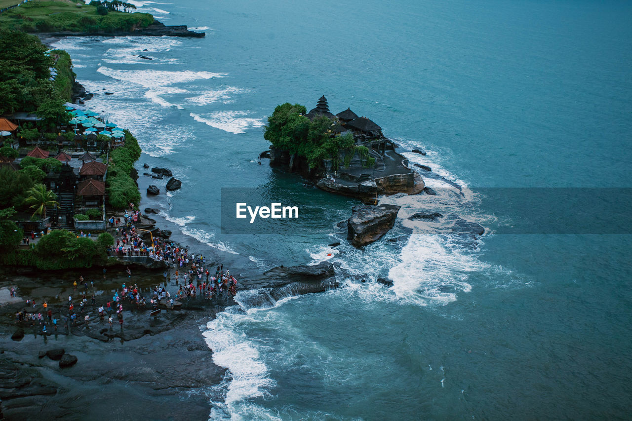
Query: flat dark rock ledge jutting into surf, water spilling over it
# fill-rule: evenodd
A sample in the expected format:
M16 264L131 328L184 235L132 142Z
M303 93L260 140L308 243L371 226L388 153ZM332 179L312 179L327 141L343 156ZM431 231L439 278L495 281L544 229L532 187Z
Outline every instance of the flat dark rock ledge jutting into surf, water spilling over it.
M271 307L287 296L318 293L337 286L334 266L329 262L274 267L254 279L241 279L241 283L253 290L248 301L243 303L251 308Z

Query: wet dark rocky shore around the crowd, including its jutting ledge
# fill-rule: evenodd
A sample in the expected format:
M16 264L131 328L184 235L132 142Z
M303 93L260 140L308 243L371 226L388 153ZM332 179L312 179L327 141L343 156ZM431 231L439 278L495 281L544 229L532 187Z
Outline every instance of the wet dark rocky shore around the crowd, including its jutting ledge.
M150 181L145 179L151 180L146 176L138 180L143 193L141 209L155 206L161 200L147 198L143 185ZM170 226L159 215L152 218L155 219L144 219L143 223L149 223L145 228L151 228L157 219L163 229L173 229L171 240L187 247L190 238L178 235L177 226ZM252 306L269 305L290 294L337 286L329 263L277 267L263 272L240 255L201 243L191 247L190 252L202 253L209 268L223 264L225 269L231 269L238 278L238 290L257 290L249 297ZM126 274L127 266L131 268L131 278ZM73 271L1 268L0 409L4 419L80 420L112 415L114 419L208 418L212 386L220 384L229 372L213 363L212 350L206 345L200 327L227 306L236 304L228 293L215 300L199 296L188 302L181 300L181 305L173 310L161 305L161 312L155 317L150 317L150 308L138 310L130 302L124 302L122 328L116 317L111 328L107 316L99 320L99 305L105 307L123 283L137 284L140 295L147 297L148 302L155 286L164 286L175 296L178 290L175 267L167 272L169 276L165 278L164 269L123 262L107 267L105 279L101 267ZM73 288L73 282L78 282L80 276L88 283L88 305L79 314L76 326L66 329L68 296L73 296L76 303L84 291L80 285L76 291ZM94 286L90 286L91 282ZM11 287L16 288L15 297L10 296ZM90 299L92 294L96 297L95 305ZM34 300L35 307L27 305L27 299ZM16 320L20 311L42 312L47 320L44 302L53 317L60 319L56 331L49 322L47 334L42 334L38 322L32 326L30 321ZM89 326L83 321L86 313L90 315ZM60 367L59 357L63 354L76 357L76 363Z

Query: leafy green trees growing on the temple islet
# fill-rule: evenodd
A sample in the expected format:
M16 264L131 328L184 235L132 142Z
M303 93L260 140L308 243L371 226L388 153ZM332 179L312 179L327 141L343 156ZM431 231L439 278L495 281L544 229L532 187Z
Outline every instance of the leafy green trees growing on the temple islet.
M307 109L300 104L286 102L277 106L268 118L264 138L277 149L304 157L310 168L319 166L323 159L331 159L332 168L341 163L348 167L355 154L365 166L375 164L367 147L356 146L352 135L334 135L334 121L325 116L310 120L306 113Z

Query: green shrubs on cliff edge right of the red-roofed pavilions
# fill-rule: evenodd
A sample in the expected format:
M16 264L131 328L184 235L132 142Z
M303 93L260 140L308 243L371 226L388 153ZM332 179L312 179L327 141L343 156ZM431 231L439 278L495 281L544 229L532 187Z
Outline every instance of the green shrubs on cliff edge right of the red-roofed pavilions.
M130 203L138 205L140 193L131 173L140 157L140 146L129 131L125 131L125 145L112 150L107 169L107 197L114 209L125 209Z

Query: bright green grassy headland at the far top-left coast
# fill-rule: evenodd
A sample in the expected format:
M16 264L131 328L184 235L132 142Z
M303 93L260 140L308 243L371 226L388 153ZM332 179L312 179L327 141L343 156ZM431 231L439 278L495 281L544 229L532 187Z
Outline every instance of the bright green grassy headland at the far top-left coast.
M25 32L99 34L146 28L154 22L154 16L149 13L125 13L119 9L134 9L134 6L119 1L93 1L90 4L81 1L30 1L0 15L0 27Z

